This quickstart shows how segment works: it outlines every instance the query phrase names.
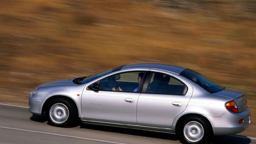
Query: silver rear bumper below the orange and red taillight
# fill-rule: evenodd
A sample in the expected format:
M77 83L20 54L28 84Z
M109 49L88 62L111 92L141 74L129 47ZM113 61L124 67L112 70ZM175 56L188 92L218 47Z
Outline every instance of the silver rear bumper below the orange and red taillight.
M233 135L241 133L245 131L251 123L251 110L249 107L241 113L226 111L221 116L204 116L211 122L214 135ZM239 124L239 119L244 119L244 122Z

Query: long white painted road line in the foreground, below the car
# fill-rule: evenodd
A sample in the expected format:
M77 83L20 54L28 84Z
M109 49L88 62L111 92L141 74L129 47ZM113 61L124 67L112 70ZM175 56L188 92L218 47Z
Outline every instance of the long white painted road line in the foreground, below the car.
M67 136L67 135L61 135L61 134L55 134L55 133L38 132L38 131L33 131L33 130L16 129L16 128L3 127L3 126L0 126L0 128L3 128L3 129L21 130L21 131L33 132L33 133L44 133L44 134L55 135L55 136L65 136L65 137L71 137L71 138L77 138L77 139L87 139L87 140L94 140L94 141L98 141L98 142L108 142L108 143L116 143L116 144L126 144L126 143L119 143L119 142L110 142L110 141L105 141L105 140L100 140L100 139L89 139L89 138L83 138L83 137L77 137L77 136Z

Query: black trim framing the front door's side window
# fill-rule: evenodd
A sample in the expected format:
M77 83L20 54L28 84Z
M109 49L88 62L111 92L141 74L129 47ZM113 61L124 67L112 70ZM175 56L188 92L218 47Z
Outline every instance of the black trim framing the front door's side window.
M116 74L123 74L123 73L130 73L130 72L145 72L145 74L144 74L144 77L147 77L147 74L149 73L149 70L131 70L131 71L124 71L124 72L120 72L120 73L116 73ZM111 77L111 76L113 76L113 75L116 75L116 74L112 74L112 75L110 75L110 76L107 76L107 77ZM107 77L104 77L104 78L107 78ZM142 81L140 82L140 84L139 84L139 87L138 87L138 90L136 91L136 92L134 92L134 91L115 91L115 90L97 90L97 91L109 91L109 92L123 92L123 93L141 93L141 91L142 91L142 85L144 85L144 83L143 82L145 82L145 80L144 80L144 77L142 78ZM102 78L102 79L104 79L104 78ZM100 80L102 80L102 79L100 79ZM94 82L94 83L100 83L100 80L97 80L96 82ZM91 83L90 85L92 85L92 84L94 84L94 83ZM89 86L90 86L89 85ZM87 86L86 87L86 90L90 90L88 87L89 86ZM95 91L95 90L93 90L93 91Z

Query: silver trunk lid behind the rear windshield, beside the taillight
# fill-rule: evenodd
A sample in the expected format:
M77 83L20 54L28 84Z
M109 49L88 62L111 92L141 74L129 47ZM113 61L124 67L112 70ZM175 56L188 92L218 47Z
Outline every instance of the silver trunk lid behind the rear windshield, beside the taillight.
M247 108L247 97L244 91L225 88L224 90L213 94L232 98L237 105L238 113L243 112Z

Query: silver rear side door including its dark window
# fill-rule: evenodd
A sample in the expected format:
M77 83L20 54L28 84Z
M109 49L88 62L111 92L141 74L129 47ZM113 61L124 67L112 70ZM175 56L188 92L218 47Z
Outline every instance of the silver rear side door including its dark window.
M176 116L185 110L192 86L177 74L152 69L148 86L139 96L137 123L139 126L169 128Z

